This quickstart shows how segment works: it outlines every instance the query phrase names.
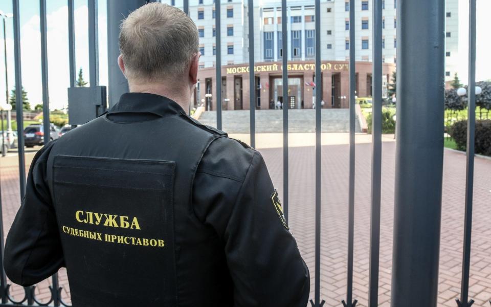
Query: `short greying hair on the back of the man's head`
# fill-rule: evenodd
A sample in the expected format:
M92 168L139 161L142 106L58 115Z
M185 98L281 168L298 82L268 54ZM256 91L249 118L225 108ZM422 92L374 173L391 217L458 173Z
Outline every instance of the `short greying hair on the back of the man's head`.
M193 20L167 4L144 5L121 23L119 47L128 79L148 82L184 74L198 45Z

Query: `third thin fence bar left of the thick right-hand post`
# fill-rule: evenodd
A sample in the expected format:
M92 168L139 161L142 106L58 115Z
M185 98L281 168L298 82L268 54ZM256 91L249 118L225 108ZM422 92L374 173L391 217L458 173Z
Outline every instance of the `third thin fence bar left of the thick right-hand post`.
M325 301L320 301L321 291L321 1L316 0L316 278L315 297L310 303L314 307L321 307ZM286 23L287 20L282 20ZM283 98L283 100L285 100ZM289 107L289 101L283 101L283 107Z

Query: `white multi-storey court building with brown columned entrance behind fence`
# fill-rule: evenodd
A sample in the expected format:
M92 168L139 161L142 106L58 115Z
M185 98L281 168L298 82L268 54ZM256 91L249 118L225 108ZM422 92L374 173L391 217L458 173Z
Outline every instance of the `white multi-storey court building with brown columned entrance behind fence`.
M189 0L189 14L195 21L199 33L199 82L194 95L195 104L204 103L214 109L215 80L215 0ZM183 8L183 0L161 0L162 3ZM391 82L397 63L397 18L396 0L383 0L383 93ZM315 5L313 0L288 0L287 2L288 91L296 91L291 105L311 107L315 96L311 94L315 76L311 65L315 61ZM347 0L321 0L321 60L323 69L323 107L347 107L344 97L349 95L348 60L350 43L356 48L357 96L371 95L365 84L371 84L372 61L372 1L359 0L355 4L355 20L350 25L349 2ZM249 70L242 68L249 62L248 2L245 0L221 0L221 64L222 105L224 109L249 107ZM458 0L447 0L447 33L445 46L445 80L450 81L457 69L458 56ZM256 107L270 108L283 101L281 91L282 61L282 17L281 1L259 0L254 7L254 58L256 80ZM354 26L355 41L349 40L349 28ZM329 64L331 64L329 66ZM334 66L342 67L335 70ZM266 67L266 71L262 71ZM309 69L305 69L305 68ZM330 69L327 69L329 68ZM239 70L237 70L239 68ZM235 70L234 70L235 69ZM232 73L234 72L234 73ZM266 76L267 74L267 76ZM294 86L291 88L291 86ZM236 90L240 89L240 91ZM297 89L297 90L296 90ZM241 94L237 94L240 92ZM233 93L233 94L232 94ZM310 93L310 94L309 94ZM206 95L208 94L208 95ZM239 99L239 97L241 97ZM267 97L267 98L266 98ZM247 103L245 103L247 102Z

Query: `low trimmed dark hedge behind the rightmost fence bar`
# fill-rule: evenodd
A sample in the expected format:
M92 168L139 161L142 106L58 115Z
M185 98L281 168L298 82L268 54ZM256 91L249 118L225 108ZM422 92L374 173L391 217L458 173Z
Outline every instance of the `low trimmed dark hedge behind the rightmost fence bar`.
M450 130L450 135L457 143L457 148L465 150L467 146L467 120L456 122ZM491 120L477 120L474 137L476 153L491 156Z

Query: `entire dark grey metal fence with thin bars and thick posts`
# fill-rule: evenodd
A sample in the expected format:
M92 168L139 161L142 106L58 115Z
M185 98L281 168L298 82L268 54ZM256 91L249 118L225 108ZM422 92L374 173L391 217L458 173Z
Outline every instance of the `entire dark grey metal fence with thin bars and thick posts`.
M255 93L254 82L254 5L249 5L249 71L250 93ZM13 0L14 41L15 41L15 83L17 105L21 105L21 62L19 0ZM108 54L109 62L119 55L117 36L118 20L121 14L127 15L145 4L144 0L108 0ZM470 0L469 27L469 80L468 80L468 118L467 130L467 171L464 217L464 248L461 280L461 296L458 306L470 306L468 298L472 195L474 170L474 127L475 127L475 56L476 56L476 0ZM286 0L281 1L282 20L287 20ZM382 165L382 8L383 0L372 0L373 12L373 129L372 129L372 180L371 180L371 229L370 229L370 268L368 306L378 305L378 263L380 251L381 215L381 165ZM440 240L440 214L443 167L443 97L444 97L444 0L397 0L397 148L395 180L395 218L392 267L392 306L436 306L438 297L438 259ZM41 29L42 97L44 131L49 131L49 94L46 39L46 0L39 1ZM75 40L74 40L74 0L68 0L70 86L75 86ZM221 46L220 1L215 2L216 46ZM316 23L316 72L317 83L321 78L320 0L315 0ZM355 17L355 0L349 0L349 19ZM184 11L189 13L189 0L184 0ZM97 46L97 0L88 0L88 33L91 87L98 85L98 46ZM350 23L354 25L354 23ZM282 79L283 97L287 97L288 70L287 24L282 23ZM421 31L425 29L425 31ZM345 307L354 307L353 299L353 238L354 238L354 174L355 174L355 27L349 29L349 194L347 195L348 214L348 259ZM109 68L109 100L127 91L121 80L121 73ZM216 78L221 80L221 48L216 49ZM221 129L221 82L216 82L217 127ZM322 97L321 86L316 87L316 97ZM321 98L322 99L322 98ZM317 99L317 101L321 101ZM112 100L112 101L111 101ZM285 105L288 105L287 103ZM20 198L25 193L25 159L23 110L17 108L18 159ZM316 108L316 238L315 238L315 289L310 303L314 307L323 306L320 296L321 265L321 107ZM417 123L417 124L416 124ZM421 131L425 131L421 135ZM250 95L250 139L255 147L255 97ZM44 134L44 142L49 134ZM424 151L420 148L425 148ZM283 204L288 221L288 107L283 107ZM0 203L1 206L1 203ZM1 207L0 207L1 210ZM4 237L2 214L0 214L0 237ZM0 261L3 258L4 243L0 241ZM25 288L25 297L16 301L9 294L3 270L0 270L0 306L10 305L54 305L67 304L61 299L57 274L52 277L51 299L40 302L36 299L34 287ZM414 295L417 294L417 298ZM340 302L341 304L341 302Z

